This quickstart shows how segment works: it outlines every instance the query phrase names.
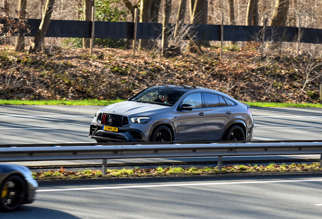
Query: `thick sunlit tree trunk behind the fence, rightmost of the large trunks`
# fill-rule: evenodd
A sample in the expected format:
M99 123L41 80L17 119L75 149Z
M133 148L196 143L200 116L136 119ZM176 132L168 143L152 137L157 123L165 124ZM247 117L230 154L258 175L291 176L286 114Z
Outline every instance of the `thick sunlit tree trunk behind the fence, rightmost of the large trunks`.
M285 26L289 11L289 0L276 0L270 26Z

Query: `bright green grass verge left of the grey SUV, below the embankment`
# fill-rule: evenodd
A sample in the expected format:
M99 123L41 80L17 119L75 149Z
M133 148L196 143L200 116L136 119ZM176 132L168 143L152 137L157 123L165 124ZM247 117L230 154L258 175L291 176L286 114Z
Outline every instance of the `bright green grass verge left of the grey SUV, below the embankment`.
M0 100L0 105L109 105L124 100Z

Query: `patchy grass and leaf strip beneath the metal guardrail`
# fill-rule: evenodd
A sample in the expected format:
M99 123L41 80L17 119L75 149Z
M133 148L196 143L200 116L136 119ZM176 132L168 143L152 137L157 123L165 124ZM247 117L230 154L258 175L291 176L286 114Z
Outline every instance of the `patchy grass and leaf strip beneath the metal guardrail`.
M300 171L321 171L319 163L311 164L275 164L269 165L227 165L219 171L218 167L157 167L141 169L108 169L106 176L101 170L84 170L79 172L66 171L61 167L59 170L33 172L36 180L52 179L81 179L81 178L108 178L108 177L142 177L142 176L175 176L175 175L211 175L227 173L267 173L267 172L300 172Z

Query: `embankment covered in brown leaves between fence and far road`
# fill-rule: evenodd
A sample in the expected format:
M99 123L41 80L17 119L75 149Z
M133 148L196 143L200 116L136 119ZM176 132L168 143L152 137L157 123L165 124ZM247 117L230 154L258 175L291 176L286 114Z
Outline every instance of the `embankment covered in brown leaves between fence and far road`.
M0 99L126 99L148 86L194 85L240 101L317 102L322 59L266 54L258 44L238 51L204 49L162 58L120 49L49 48L36 54L0 46Z

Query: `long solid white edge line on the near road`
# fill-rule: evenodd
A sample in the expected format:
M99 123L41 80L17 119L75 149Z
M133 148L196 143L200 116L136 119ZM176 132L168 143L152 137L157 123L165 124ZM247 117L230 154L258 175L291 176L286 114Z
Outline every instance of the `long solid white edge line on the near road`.
M208 182L208 183L200 183L200 184L165 184L165 185L145 185L145 186L98 187L98 188L92 187L92 188L71 188L71 189L36 190L36 192L61 192L61 191L81 191L81 190L134 189L134 188L183 187L183 186L212 186L212 185L233 185L233 184L264 184L264 183L311 182L311 181L322 181L322 179L274 180L274 181L244 181L244 182Z

